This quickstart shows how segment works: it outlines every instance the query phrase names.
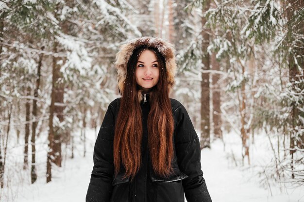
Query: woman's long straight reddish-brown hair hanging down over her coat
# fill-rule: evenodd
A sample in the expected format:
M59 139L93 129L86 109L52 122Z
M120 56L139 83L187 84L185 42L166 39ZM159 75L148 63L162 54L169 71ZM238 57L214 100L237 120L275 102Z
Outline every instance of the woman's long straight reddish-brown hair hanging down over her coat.
M148 147L153 170L163 176L172 171L174 120L167 88L165 59L156 48L138 47L127 64L125 87L120 100L114 137L114 167L118 174L120 166L125 177L135 176L141 164L142 111L138 100L139 87L135 79L136 63L143 50L154 51L159 63L159 80L150 92L148 115ZM121 165L122 163L122 165Z

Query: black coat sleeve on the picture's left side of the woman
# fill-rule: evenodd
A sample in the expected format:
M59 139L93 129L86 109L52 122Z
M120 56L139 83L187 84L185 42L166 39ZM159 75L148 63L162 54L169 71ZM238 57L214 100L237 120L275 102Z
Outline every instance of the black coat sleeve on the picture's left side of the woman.
M94 167L87 189L86 202L109 202L114 174L113 139L115 119L109 105L94 146Z

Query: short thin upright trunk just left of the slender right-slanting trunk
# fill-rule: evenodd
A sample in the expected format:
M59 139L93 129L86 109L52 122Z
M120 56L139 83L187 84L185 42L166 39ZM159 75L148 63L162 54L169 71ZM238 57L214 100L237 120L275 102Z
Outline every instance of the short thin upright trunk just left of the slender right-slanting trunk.
M27 95L31 95L31 87L27 87ZM25 136L24 136L24 160L23 160L23 170L28 168L28 155L29 155L29 136L30 136L30 100L26 100L25 103Z

